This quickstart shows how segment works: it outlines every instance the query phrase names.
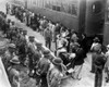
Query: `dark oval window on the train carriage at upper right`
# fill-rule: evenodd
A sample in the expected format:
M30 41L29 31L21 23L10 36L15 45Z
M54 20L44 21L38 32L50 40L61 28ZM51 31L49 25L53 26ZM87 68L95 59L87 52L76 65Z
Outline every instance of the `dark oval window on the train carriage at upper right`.
M102 8L101 2L96 1L92 5L92 12L97 14L97 13L101 12L101 8Z

